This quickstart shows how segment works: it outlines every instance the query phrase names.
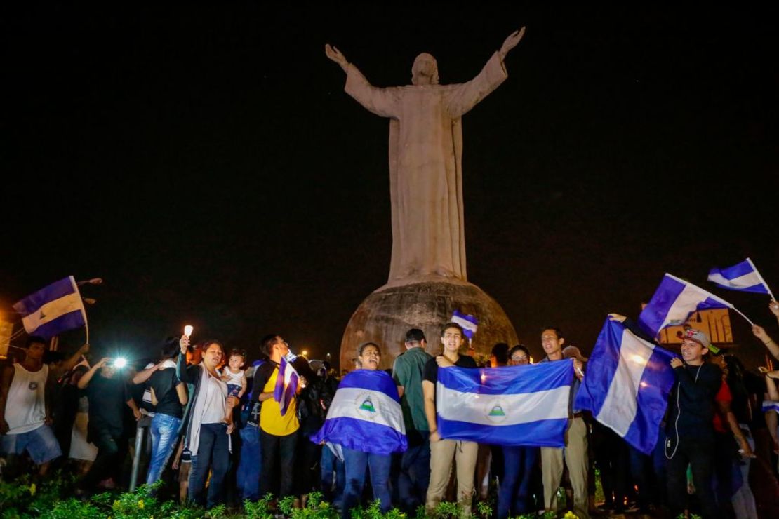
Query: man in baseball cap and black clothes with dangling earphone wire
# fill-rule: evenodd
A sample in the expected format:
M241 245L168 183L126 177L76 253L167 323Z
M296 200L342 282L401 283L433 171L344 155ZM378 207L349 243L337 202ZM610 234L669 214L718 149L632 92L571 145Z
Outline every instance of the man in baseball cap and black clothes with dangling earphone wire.
M722 384L719 366L707 363L712 347L703 331L686 328L682 339L682 359L671 359L676 384L671 390L665 443L668 458L668 505L671 517L686 508L687 465L693 472L696 494L703 517L724 517L712 487L714 467L714 397Z

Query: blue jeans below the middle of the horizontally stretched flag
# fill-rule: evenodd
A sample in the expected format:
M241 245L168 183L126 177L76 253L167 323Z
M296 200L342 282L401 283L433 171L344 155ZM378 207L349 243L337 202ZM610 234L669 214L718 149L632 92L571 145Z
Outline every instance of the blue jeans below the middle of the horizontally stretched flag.
M538 461L536 447L503 447L503 480L498 489L498 518L530 512L530 478Z

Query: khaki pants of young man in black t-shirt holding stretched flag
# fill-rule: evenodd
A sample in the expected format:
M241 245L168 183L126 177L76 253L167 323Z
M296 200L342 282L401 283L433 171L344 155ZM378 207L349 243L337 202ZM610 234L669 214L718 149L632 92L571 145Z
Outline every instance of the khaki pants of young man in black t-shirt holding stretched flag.
M452 472L452 461L457 465L457 496L463 507L463 516L471 515L471 501L474 496L474 470L478 455L478 444L472 441L439 440L430 442L430 486L425 500L425 507L432 511L441 503L449 475Z

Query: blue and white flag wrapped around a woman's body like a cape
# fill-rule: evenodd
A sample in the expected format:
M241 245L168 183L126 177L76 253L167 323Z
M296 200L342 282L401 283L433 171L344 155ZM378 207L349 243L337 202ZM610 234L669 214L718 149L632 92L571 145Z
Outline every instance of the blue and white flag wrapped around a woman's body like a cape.
M311 440L371 454L406 451L406 426L395 381L382 370L347 373L322 429Z

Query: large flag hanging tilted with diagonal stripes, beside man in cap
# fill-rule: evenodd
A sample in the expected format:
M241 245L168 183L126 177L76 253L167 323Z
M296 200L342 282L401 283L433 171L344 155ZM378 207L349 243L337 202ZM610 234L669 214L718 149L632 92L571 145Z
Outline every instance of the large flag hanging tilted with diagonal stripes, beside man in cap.
M589 410L598 422L650 454L675 380L674 356L619 321L606 319L574 409Z

